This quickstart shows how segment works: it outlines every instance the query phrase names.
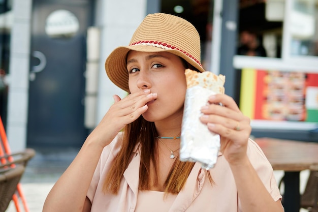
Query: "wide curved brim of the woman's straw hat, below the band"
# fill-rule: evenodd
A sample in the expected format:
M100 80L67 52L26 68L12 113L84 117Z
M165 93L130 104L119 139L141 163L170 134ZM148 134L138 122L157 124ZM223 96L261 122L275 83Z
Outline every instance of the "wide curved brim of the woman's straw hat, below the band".
M198 71L204 72L204 69L192 58L186 54L175 49L162 49L154 46L147 45L133 45L133 46L120 46L114 49L106 59L105 70L109 79L118 87L129 92L128 86L128 71L126 68L126 56L130 50L142 51L142 52L170 52L175 54L195 67Z

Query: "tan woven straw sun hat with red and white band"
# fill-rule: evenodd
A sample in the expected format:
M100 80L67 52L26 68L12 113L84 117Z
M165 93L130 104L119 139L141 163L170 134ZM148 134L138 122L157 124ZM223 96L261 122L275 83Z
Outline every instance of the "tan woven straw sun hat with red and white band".
M200 36L197 29L174 15L147 15L136 29L129 46L120 46L107 57L105 69L109 79L126 92L129 92L126 55L130 50L170 52L204 72L200 62Z

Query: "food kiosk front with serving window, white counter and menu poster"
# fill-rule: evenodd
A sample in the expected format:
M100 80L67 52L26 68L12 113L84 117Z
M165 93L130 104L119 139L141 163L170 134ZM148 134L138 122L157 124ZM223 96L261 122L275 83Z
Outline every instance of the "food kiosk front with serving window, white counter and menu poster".
M240 109L252 119L252 134L317 142L318 1L248 2L240 5L240 33L256 35L267 53L233 59L241 75Z

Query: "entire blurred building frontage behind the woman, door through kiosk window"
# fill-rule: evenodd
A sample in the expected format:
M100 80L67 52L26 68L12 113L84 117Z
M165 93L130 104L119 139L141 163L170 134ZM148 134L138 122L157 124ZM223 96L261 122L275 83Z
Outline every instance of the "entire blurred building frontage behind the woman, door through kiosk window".
M13 150L80 146L112 95L126 95L105 58L155 12L197 27L204 68L226 75L253 135L318 140L318 0L13 0L9 11L0 68Z

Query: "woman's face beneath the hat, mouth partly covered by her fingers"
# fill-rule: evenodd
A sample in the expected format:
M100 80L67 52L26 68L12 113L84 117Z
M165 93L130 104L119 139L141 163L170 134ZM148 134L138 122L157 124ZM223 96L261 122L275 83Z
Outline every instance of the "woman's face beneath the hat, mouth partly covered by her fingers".
M180 57L169 52L130 51L127 56L129 89L150 89L157 98L147 103L143 117L149 122L182 117L186 81Z

